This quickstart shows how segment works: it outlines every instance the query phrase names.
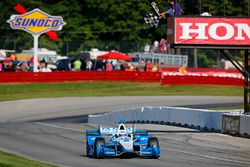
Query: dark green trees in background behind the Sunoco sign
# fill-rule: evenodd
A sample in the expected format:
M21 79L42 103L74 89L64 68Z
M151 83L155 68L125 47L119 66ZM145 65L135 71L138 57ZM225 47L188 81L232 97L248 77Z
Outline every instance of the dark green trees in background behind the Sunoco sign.
M249 1L178 0L183 8L183 15L194 16L199 16L203 7L209 7L213 16L223 16L224 13L226 16L249 16ZM12 14L17 14L13 10L17 2L23 4L28 11L40 8L51 15L63 17L67 25L57 32L60 42L50 41L45 35L40 38L40 44L51 49L62 50L70 41L75 41L70 46L74 50L86 45L98 45L100 41L150 43L166 35L164 24L153 29L143 23L143 17L149 12L153 13L148 0L2 0L1 47L13 49L13 41L23 43L19 50L32 47L31 35L10 29L6 22ZM160 11L169 7L168 0L158 0L158 4Z

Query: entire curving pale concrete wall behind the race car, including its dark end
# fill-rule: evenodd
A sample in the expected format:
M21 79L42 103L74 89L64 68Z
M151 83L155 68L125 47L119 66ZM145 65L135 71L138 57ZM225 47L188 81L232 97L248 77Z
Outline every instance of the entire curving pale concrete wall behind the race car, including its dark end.
M88 116L88 122L95 124L114 124L120 120L126 122L172 123L201 129L220 130L233 134L250 134L250 116L242 115L239 110L211 111L148 106Z

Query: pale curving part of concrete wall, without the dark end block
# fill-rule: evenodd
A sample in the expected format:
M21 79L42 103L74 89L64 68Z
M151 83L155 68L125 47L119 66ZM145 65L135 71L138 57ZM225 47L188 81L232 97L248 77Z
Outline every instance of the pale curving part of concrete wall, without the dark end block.
M101 115L89 115L89 123L109 124L119 120L127 122L158 122L192 125L208 129L221 129L222 112L178 107L140 107Z

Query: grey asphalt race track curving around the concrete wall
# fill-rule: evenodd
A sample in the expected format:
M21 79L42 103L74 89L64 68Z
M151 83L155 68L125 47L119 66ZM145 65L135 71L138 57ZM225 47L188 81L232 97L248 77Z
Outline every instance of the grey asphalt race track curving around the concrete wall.
M221 106L239 97L92 97L0 102L0 150L59 166L250 166L250 140L166 125L136 125L160 140L158 160L86 157L86 115L136 106ZM1 157L0 157L1 158Z

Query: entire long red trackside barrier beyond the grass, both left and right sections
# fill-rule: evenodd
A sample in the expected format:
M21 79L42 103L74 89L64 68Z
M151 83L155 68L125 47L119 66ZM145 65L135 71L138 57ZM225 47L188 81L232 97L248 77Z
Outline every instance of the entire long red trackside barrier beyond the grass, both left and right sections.
M233 85L243 86L240 73L226 72L137 72L137 71L80 71L80 72L2 72L0 83L126 81L158 82L162 85Z

